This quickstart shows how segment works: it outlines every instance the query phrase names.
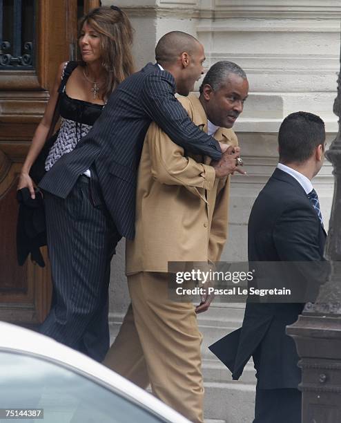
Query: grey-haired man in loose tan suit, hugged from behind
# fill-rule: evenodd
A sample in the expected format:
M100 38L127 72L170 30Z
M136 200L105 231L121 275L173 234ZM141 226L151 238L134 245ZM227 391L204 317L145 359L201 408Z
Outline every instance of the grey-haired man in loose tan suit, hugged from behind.
M161 63L166 67L166 64ZM202 130L228 144L220 162L189 157L156 124L142 151L137 182L136 236L126 243L131 305L106 366L146 388L192 422L203 422L203 382L197 312L168 298L168 261L219 261L226 241L230 174L237 137L230 129L243 110L249 84L232 62L213 65L195 95L181 97Z

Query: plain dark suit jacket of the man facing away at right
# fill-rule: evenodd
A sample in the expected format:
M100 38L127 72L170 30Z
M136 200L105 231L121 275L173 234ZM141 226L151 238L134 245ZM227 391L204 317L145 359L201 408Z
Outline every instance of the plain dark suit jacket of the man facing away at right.
M278 277L307 286L323 281L327 267L322 265L326 234L311 201L295 178L275 169L255 200L249 218L249 261L314 262L288 267ZM308 272L306 272L308 270ZM298 277L299 276L299 277ZM279 286L276 283L276 286ZM304 292L304 290L302 290ZM257 369L259 388L297 388L300 383L295 343L286 335L304 303L246 303L241 329L227 335L211 350L238 379L251 355Z

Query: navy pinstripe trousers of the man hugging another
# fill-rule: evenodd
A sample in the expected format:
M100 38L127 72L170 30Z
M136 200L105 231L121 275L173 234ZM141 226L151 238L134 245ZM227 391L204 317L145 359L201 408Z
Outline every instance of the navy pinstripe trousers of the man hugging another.
M40 332L101 361L109 348L110 261L121 236L86 176L66 199L44 198L53 291Z

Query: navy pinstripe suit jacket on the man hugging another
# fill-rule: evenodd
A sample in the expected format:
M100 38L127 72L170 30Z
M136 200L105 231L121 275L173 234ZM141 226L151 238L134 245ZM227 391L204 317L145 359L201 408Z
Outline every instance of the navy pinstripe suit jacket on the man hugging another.
M152 121L185 150L220 159L217 141L195 126L176 100L173 75L150 63L119 84L88 135L54 164L39 187L66 198L92 166L119 233L133 238L137 167Z

